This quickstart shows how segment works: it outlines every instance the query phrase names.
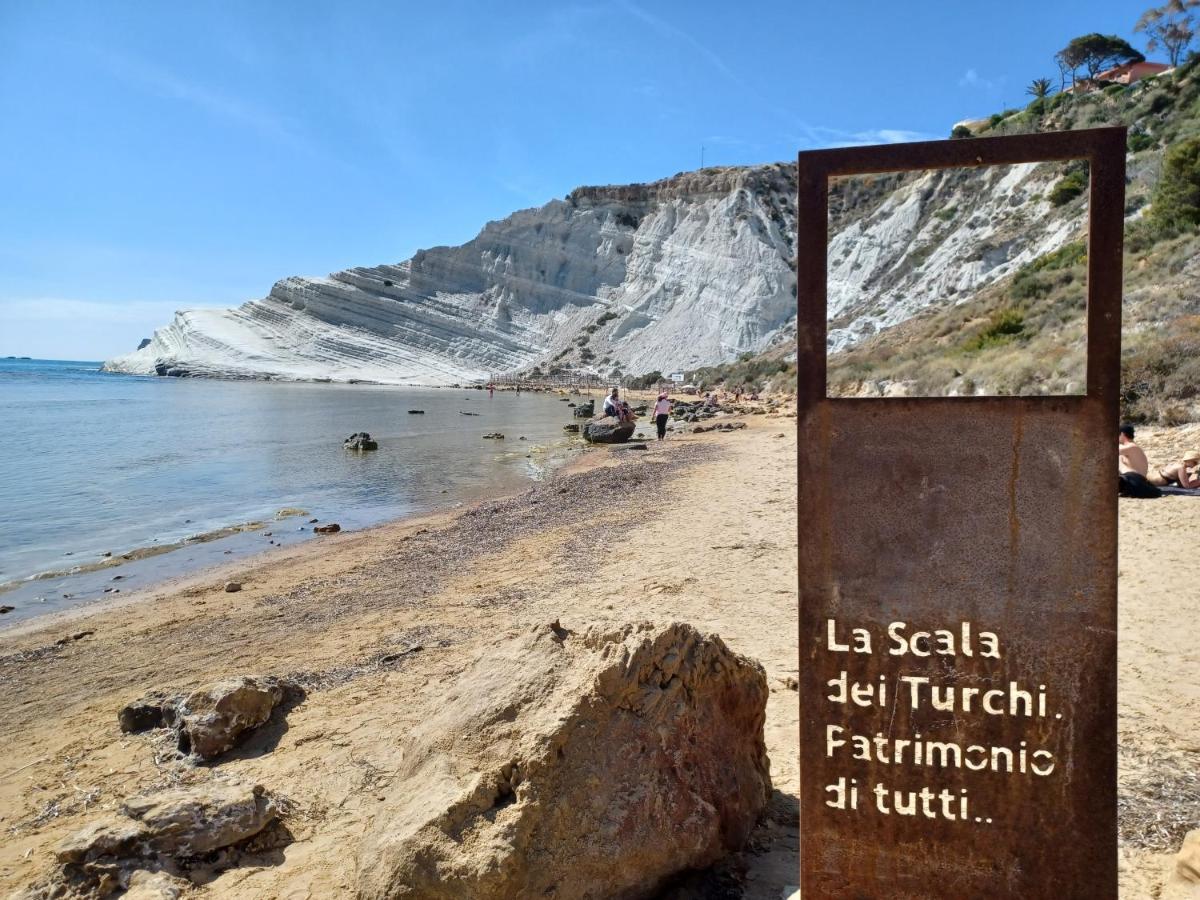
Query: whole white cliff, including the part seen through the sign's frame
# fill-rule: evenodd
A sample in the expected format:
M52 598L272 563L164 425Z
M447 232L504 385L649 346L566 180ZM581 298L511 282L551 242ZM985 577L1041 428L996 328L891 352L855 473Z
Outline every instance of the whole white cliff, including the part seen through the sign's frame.
M1078 204L1040 199L1057 176L1024 166L835 187L830 347L962 300L1070 239L1064 211ZM582 187L460 247L180 312L104 367L450 384L533 366L641 374L727 361L793 334L794 192L781 163Z

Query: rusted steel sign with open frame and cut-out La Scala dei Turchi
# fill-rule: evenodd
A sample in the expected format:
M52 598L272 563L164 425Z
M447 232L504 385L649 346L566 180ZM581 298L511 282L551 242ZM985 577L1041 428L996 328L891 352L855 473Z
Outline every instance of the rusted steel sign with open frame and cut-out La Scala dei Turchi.
M799 155L805 900L1116 896L1114 437L1124 152L1123 128L1099 128ZM826 397L830 175L1068 158L1091 163L1086 396ZM870 635L872 652L832 650L829 619L838 623L838 646L857 626ZM887 629L898 622L907 623L906 636L947 629L956 638L970 623L973 655L959 646L954 655L892 655L898 644ZM1000 659L980 655L982 631L996 635ZM841 672L864 685L878 685L882 676L887 702L832 701L842 696ZM1006 714L979 712L982 694L965 712L961 691L953 709L931 709L922 683L913 709L914 683L901 677L1000 690L989 709ZM1034 713L1045 685L1045 715L1025 716L1010 682L1031 692ZM865 690L858 697L869 702ZM846 746L827 744L828 726L844 728L832 737ZM852 758L851 734L881 736L883 756L871 743L856 748L869 760ZM895 743L917 734L940 745L925 744L922 764L911 746ZM955 767L953 749L941 746L984 748L964 757L978 766L992 746L1016 760L1021 742L1027 757L1052 754L1037 757L1040 770L1052 761L1052 772L974 772ZM899 764L898 749L907 750ZM1004 768L1007 757L996 758ZM827 788L841 778L857 780L857 809L828 805L839 794ZM876 785L884 786L887 814ZM907 811L907 792L924 787L935 799L918 793L916 815L898 815L890 792L902 792Z

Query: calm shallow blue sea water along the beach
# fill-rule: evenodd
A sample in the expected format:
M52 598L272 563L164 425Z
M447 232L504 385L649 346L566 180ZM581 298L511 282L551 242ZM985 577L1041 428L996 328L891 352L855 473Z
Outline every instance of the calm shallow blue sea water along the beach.
M564 400L0 359L0 628L312 540L312 520L520 491L577 449ZM360 431L379 449L344 450Z

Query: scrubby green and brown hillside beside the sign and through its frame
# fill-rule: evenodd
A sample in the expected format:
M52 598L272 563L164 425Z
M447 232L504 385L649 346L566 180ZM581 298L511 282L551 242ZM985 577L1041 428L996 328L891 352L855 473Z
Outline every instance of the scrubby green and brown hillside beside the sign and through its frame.
M1134 421L1200 419L1198 62L1129 86L1036 98L971 132L1129 127L1122 400ZM1082 218L1086 167L1068 163L1057 174L1043 199ZM1081 392L1086 264L1086 240L1073 240L971 296L833 354L830 394Z

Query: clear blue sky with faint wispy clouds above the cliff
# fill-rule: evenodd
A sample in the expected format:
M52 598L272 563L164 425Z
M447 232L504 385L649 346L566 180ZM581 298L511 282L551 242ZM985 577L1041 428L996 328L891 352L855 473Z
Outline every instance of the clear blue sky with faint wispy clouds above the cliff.
M104 359L702 152L943 138L1076 35L1145 50L1145 6L0 0L0 356Z

